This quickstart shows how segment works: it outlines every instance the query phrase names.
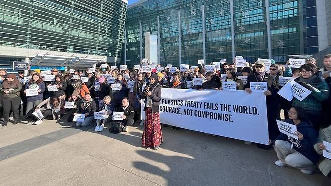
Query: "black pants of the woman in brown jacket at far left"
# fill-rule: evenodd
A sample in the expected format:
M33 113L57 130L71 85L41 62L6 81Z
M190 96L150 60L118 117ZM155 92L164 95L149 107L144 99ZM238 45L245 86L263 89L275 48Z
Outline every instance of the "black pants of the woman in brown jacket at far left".
M9 120L9 112L12 110L13 115L14 115L14 121L18 121L19 120L19 106L21 103L21 97L15 97L15 98L11 98L11 99L7 99L7 98L2 98L1 99L1 104L5 107L3 114L4 114L4 122L8 122Z

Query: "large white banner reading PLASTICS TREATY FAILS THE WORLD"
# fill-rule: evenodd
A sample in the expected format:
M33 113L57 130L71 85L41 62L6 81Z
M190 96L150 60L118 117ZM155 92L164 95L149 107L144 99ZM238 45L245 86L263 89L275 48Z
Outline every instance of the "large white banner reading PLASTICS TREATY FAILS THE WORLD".
M161 123L268 144L266 97L262 92L162 88Z

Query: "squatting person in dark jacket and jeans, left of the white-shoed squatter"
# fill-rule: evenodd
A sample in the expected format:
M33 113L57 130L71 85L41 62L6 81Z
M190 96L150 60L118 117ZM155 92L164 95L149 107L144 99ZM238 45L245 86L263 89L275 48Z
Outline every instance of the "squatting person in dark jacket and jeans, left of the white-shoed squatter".
M91 98L90 93L84 95L84 100L80 99L77 103L77 110L73 115L84 114L85 118L82 122L77 122L76 127L86 127L92 123L94 112L97 111L96 103Z

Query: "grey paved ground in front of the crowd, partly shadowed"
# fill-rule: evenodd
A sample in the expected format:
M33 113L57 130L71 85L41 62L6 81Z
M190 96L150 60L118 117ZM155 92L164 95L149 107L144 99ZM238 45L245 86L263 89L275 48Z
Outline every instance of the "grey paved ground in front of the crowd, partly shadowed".
M273 150L189 130L163 128L157 151L143 127L112 134L45 121L0 128L0 185L330 185L318 170L280 168Z

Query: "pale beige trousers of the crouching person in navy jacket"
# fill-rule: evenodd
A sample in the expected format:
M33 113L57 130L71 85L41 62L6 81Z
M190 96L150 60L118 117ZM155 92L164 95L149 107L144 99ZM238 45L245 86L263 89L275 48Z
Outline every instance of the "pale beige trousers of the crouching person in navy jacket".
M314 170L315 168L315 165L308 158L292 149L288 141L276 140L275 150L278 159L288 166L303 170Z

